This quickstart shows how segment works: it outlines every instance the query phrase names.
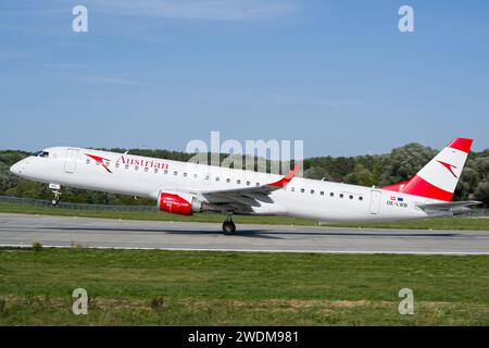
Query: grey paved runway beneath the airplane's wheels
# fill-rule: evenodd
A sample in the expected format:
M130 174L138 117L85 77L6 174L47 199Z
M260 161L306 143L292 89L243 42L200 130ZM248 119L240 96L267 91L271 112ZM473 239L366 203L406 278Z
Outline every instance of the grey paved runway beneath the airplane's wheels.
M489 254L489 232L353 229L0 214L1 246L319 253Z

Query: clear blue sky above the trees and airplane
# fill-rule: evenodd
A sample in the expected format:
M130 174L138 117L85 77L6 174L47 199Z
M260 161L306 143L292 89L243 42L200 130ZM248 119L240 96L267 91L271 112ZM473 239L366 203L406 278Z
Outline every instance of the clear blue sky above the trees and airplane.
M72 30L76 4L88 33ZM398 30L414 8L415 33ZM1 1L0 148L489 148L487 1ZM7 129L7 132L5 132Z

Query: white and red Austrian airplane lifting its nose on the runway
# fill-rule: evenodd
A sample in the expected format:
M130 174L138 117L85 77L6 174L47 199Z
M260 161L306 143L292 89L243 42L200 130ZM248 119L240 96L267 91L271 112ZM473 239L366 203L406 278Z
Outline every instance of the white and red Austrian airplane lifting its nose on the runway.
M236 233L233 215L283 215L318 222L383 222L465 213L477 201L452 201L473 139L456 138L410 181L363 187L77 147L52 147L15 163L12 173L61 187L154 199L160 210L226 215L223 232Z

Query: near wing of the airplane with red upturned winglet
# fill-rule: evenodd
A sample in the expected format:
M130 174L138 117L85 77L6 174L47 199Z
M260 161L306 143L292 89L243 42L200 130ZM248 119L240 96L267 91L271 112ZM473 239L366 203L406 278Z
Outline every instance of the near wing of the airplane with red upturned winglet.
M296 167L280 181L271 184L244 188L202 190L196 194L204 198L210 204L215 206L216 210L234 211L238 214L249 214L253 211L253 207L261 207L264 202L273 203L269 194L286 187L300 169L300 165L296 165Z

